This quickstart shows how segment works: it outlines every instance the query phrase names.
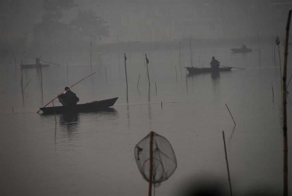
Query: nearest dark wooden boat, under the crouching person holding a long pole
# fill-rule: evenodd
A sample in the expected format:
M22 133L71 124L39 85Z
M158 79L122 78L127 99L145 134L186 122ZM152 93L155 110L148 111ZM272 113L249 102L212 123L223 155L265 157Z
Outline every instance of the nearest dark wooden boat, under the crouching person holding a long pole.
M91 112L91 111L102 111L108 107L114 105L118 97L105 99L101 101L93 101L90 103L76 104L76 105L65 105L65 106L56 106L56 107L40 107L44 114L53 114L54 108L55 113L64 113L64 112Z

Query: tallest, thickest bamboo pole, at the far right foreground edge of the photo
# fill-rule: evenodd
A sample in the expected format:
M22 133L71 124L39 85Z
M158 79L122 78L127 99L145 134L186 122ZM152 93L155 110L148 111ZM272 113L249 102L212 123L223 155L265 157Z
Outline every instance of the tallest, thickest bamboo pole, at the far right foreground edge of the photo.
M287 139L287 100L286 100L286 75L287 75L287 55L288 55L288 40L289 40L289 29L291 20L291 10L288 14L288 21L286 26L286 39L284 49L284 71L283 71L283 86L282 86L282 99L283 99L283 132L284 132L284 161L283 161L283 172L284 172L284 190L283 195L288 195L288 139Z

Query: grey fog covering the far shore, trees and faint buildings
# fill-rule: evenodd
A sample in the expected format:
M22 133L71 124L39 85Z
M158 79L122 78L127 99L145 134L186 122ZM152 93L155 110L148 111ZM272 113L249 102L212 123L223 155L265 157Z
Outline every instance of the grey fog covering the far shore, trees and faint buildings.
M11 50L34 55L69 48L82 51L90 42L93 46L117 41L161 42L161 46L175 42L177 46L190 35L194 45L201 42L199 46L210 41L255 44L258 34L261 42L271 43L275 35L284 38L292 8L291 1L63 2L1 1L1 59ZM72 23L80 11L92 14Z

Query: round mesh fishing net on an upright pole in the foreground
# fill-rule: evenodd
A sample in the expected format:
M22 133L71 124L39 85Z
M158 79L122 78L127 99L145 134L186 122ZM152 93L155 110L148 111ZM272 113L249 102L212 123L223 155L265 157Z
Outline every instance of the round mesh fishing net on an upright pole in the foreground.
M135 146L135 160L143 178L149 182L151 132ZM153 132L152 183L159 187L175 171L177 161L171 144Z

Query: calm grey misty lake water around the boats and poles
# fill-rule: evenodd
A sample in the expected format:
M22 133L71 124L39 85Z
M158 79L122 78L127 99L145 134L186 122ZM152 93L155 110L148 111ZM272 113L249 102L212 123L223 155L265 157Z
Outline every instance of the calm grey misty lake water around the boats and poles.
M228 193L224 131L233 195L253 190L282 195L281 80L279 59L275 66L270 48L262 47L260 65L258 51L232 54L230 48L194 49L194 67L202 67L203 61L204 67L209 67L215 56L221 65L247 68L218 75L186 75L185 61L190 66L187 51L181 67L178 51L147 51L150 88L143 52L126 51L128 93L124 51L120 66L117 53L101 52L100 68L96 52L92 67L89 52L43 56L43 60L63 65L42 68L43 91L38 70L23 69L23 86L32 79L23 94L19 65L1 65L0 194L147 195L148 183L136 165L134 147L150 131L168 139L178 162L174 174L155 188L155 195L181 195L194 179L204 178L219 181ZM91 74L91 69L96 74L72 91L79 103L119 97L113 110L57 114L56 128L54 115L36 113L65 86ZM289 79L291 55L287 71ZM291 84L288 91L291 194ZM61 105L57 99L54 104Z

